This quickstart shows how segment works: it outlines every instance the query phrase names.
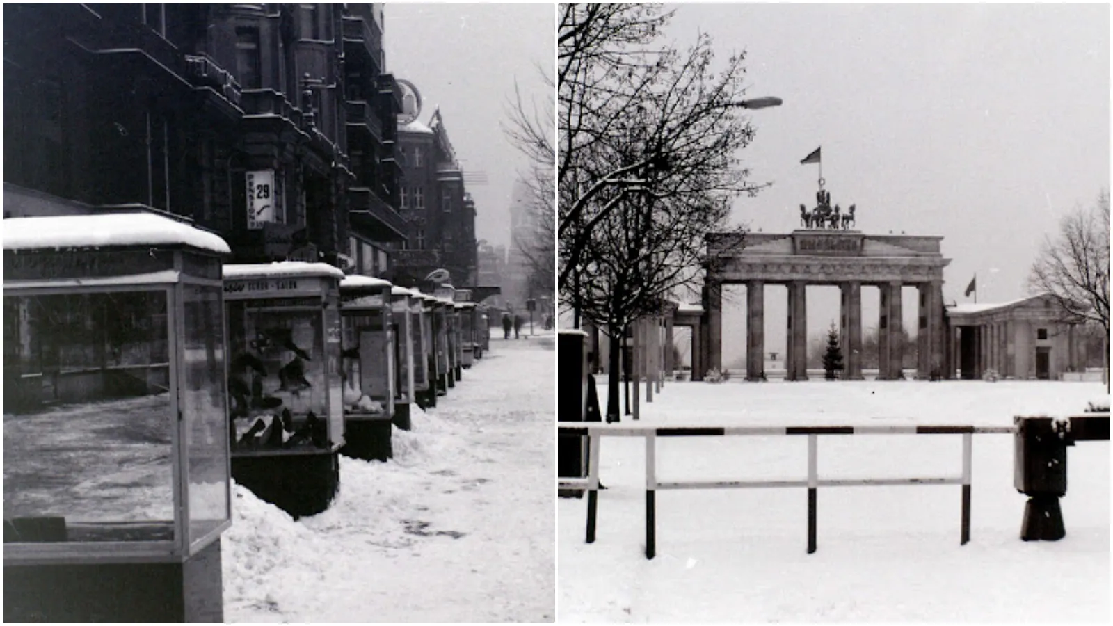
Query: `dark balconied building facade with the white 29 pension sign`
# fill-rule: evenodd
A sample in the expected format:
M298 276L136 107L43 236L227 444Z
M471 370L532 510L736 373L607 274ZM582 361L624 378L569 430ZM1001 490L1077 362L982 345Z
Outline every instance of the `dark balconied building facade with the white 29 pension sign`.
M6 4L3 31L6 216L145 208L232 262L388 274L381 4Z

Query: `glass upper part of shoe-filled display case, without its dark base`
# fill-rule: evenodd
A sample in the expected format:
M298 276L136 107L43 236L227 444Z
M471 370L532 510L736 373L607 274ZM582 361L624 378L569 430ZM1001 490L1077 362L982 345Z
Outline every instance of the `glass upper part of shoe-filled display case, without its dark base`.
M344 443L341 276L324 263L225 265L233 457Z

